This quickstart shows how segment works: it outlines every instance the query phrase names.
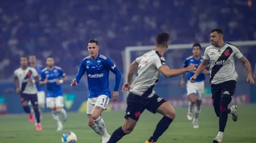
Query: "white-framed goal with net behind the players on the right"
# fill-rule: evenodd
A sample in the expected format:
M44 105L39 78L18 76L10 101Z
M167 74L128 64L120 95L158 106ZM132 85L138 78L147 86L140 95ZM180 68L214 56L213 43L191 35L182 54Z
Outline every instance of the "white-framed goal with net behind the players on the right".
M247 59L251 62L251 66L254 67L256 60L256 41L232 41L230 42L233 45L236 45L240 48L242 53L245 55ZM185 58L192 55L192 45L193 44L175 44L170 45L167 53L164 55L166 59L166 63L170 68L182 68L183 61ZM203 50L201 51L201 55L204 54L205 47L209 46L209 43L201 43ZM143 55L147 51L154 49L155 46L129 46L125 48L125 54L123 58L123 81L127 81L127 72L129 70L129 66L135 58ZM238 99L235 99L234 102L249 102L249 94L250 94L250 86L246 85L246 77L247 72L243 66L243 63L238 59L236 61L236 70L239 75L238 77L238 85L236 94ZM185 78L187 79L187 78ZM155 85L155 91L159 94L160 97L170 99L170 102L174 106L187 106L187 91L185 88L181 88L180 86L181 76L172 77L167 79L160 74L160 79L158 84ZM204 105L211 105L210 100L210 88L209 88L209 76L206 76L205 80L205 93L203 102ZM123 94L123 99L125 100L127 94Z

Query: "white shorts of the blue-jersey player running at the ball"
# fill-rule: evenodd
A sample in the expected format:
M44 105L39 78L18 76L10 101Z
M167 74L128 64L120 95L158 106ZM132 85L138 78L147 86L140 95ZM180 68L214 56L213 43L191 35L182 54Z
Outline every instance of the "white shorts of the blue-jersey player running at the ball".
M88 98L87 100L87 114L92 114L92 110L94 106L102 107L102 109L106 110L106 106L109 103L109 97L105 95L98 96L96 98Z

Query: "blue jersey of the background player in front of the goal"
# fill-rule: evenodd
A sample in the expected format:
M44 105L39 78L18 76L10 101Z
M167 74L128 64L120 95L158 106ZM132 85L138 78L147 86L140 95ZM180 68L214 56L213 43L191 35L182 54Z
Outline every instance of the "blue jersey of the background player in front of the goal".
M204 57L201 56L200 59L196 60L196 59L193 57L193 55L192 55L192 56L190 56L190 57L188 57L188 58L186 58L186 59L184 60L183 66L184 66L184 67L188 67L190 64L195 64L195 67L198 68L199 65L201 64L201 62L203 61L203 58L204 58ZM196 71L188 72L188 73L187 73L187 79L189 80L189 79L195 74L195 72L196 72ZM204 76L204 73L201 72L201 73L197 76L196 82L200 82L200 81L203 81L203 80L205 80L205 76Z

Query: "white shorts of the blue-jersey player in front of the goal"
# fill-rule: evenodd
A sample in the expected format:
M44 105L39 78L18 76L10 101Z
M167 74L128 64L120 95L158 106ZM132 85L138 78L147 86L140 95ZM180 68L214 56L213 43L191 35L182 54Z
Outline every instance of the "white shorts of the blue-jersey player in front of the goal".
M204 81L191 83L187 81L187 96L195 94L198 100L202 100L204 94Z

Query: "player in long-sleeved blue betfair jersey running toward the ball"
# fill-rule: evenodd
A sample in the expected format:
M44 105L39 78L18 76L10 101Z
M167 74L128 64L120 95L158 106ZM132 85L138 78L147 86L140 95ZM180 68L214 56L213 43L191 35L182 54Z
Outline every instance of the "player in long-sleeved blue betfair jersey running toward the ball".
M118 98L121 72L109 58L98 54L99 49L100 46L95 38L89 40L88 52L90 55L82 60L76 78L71 82L71 86L77 85L84 73L87 73L89 86L87 101L88 125L98 135L102 136L102 143L105 143L109 140L110 135L106 131L101 113L106 110L111 97L113 97L113 101L116 101ZM115 74L115 87L112 96L109 89L109 71Z

